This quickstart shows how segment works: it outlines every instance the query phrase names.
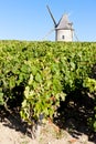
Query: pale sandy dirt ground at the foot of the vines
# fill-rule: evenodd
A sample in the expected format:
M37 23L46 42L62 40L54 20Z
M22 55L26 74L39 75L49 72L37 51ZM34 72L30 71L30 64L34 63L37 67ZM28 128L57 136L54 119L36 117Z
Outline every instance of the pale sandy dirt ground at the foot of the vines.
M61 131L55 124L47 122L41 127L39 137L32 140L26 124L19 121L18 115L13 117L8 114L0 120L0 144L95 144L87 134L71 128L74 121L67 120L68 126Z

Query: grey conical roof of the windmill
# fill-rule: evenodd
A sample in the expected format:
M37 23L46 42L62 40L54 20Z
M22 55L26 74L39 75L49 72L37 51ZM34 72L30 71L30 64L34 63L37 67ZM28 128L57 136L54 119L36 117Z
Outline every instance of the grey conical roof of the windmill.
M61 18L56 29L57 30L58 29L61 29L61 30L62 29L63 30L73 30L72 24L73 23L71 23L70 20L68 20L68 16L67 14L63 14L63 17Z

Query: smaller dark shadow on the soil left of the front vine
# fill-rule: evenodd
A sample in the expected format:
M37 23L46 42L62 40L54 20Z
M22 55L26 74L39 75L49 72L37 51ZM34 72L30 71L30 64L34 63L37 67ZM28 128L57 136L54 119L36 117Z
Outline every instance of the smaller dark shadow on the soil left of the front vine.
M3 107L0 107L0 122L2 122L4 126L20 131L31 137L31 132L28 124L21 120L17 110L13 110L12 113L10 113Z

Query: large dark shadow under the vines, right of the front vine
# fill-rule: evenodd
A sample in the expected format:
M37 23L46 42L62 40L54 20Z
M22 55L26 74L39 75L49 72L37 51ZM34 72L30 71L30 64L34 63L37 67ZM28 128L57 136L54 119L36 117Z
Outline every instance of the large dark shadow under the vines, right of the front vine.
M93 132L87 121L94 114L93 105L94 101L87 94L78 94L77 101L71 94L65 102L61 102L58 115L54 119L54 123L66 130L75 138L86 134L88 141L96 143L96 133Z

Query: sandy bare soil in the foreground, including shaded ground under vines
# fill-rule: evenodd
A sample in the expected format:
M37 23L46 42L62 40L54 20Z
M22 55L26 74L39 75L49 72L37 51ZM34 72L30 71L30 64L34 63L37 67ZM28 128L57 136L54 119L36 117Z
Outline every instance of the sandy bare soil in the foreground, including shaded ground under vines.
M60 116L54 123L47 122L41 126L39 137L32 140L31 131L19 113L10 114L1 110L0 144L96 144L96 134L88 130L85 122L77 122L75 117L64 121Z

